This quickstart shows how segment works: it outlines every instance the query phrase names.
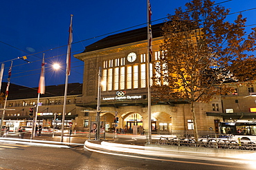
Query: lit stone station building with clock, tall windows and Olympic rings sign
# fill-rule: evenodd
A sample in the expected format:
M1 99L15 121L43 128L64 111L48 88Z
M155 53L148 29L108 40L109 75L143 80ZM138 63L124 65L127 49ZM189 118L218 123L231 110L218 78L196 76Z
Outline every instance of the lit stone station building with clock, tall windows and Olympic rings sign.
M150 75L156 74L154 65L161 56L159 45L163 43L161 26L152 26L153 59ZM148 120L147 93L147 28L113 34L88 45L84 52L75 54L84 61L84 82L82 103L84 110L97 107L98 72L102 68L102 92L100 97L101 116L107 118L107 129L113 127L118 117L117 128L132 131L134 125L142 126L147 132L149 126L154 133L193 133L190 104L185 101L154 101L151 103L151 125ZM151 81L151 85L152 85ZM153 92L152 92L153 93ZM212 107L218 107L213 110ZM219 131L221 116L207 116L206 112L220 112L221 96L210 103L196 103L197 125L202 133ZM89 112L88 116L93 116Z

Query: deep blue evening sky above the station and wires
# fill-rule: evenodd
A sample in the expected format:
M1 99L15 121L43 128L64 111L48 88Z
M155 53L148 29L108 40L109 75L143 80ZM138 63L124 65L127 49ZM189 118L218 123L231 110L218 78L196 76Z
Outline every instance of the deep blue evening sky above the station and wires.
M152 24L164 21L167 14L189 0L151 0ZM217 0L223 2L227 0ZM232 0L222 3L231 12L256 8L255 0ZM73 45L71 52L78 54L86 45L104 38L104 34L125 31L126 28L146 26L147 0L11 0L0 6L0 63L5 63L3 81L7 81L10 60L13 61L10 82L37 87L43 52L46 58L46 85L65 83L66 44L70 15L73 14ZM255 24L256 10L242 13L246 25ZM229 16L230 19L237 14ZM158 21L156 21L158 20ZM143 24L144 23L144 24ZM143 25L141 25L143 24ZM255 25L253 26L255 27ZM252 27L250 27L252 28ZM100 37L98 37L100 36ZM106 36L106 35L105 35ZM96 37L93 39L93 37ZM97 38L98 37L98 38ZM78 41L82 41L76 43ZM33 55L30 55L33 54ZM28 55L26 63L17 57ZM51 64L62 63L62 70L54 72ZM71 59L68 83L82 83L83 62Z

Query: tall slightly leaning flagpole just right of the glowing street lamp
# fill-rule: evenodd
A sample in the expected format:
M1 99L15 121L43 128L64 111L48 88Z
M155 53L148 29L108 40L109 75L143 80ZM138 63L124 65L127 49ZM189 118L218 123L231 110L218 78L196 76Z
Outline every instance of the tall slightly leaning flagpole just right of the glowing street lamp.
M71 72L71 43L72 39L72 19L73 14L71 14L71 25L69 26L69 36L68 36L68 50L66 53L66 81L65 81L65 91L64 91L64 102L63 102L63 112L62 112L62 134L60 142L63 142L64 136L64 125L65 125L65 115L66 115L66 94L68 92L68 76ZM54 129L53 129L54 130Z

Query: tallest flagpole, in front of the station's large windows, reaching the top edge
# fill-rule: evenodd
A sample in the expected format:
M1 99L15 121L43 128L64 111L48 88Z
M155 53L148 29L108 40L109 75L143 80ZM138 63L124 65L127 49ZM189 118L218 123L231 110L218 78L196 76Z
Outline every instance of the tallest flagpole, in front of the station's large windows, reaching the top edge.
M150 92L150 59L151 59L151 52L150 52L150 46L151 46L151 23L150 23L150 18L149 14L151 12L150 9L150 3L149 0L147 0L147 111L148 111L148 124L149 124L149 139L147 140L148 144L151 144L152 141L152 127L151 127L151 92Z

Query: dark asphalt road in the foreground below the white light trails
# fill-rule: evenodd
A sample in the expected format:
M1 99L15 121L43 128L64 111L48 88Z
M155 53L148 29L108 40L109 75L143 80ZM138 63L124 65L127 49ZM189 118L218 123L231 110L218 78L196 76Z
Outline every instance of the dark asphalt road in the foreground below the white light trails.
M189 156L174 155L172 158L116 153L84 151L82 147L63 149L33 147L0 142L0 169L254 169L245 162L226 162L210 159L196 160Z

